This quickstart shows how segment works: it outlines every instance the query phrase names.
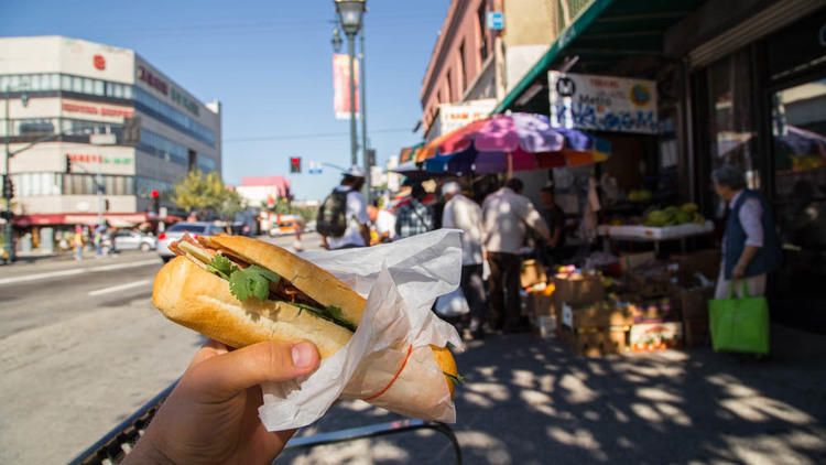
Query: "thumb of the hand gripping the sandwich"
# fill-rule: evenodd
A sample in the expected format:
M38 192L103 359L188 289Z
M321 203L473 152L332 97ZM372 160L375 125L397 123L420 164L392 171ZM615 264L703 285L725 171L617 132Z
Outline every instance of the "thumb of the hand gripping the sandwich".
M205 401L221 402L267 381L286 381L318 366L318 349L309 342L264 342L207 358L192 367L189 379ZM185 377L186 378L186 377Z

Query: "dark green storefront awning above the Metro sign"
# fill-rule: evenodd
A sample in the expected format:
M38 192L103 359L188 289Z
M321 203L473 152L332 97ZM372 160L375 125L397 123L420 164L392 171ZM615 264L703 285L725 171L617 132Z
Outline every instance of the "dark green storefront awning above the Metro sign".
M547 72L558 68L566 58L576 57L577 72L600 74L613 69L630 56L662 56L663 35L676 22L691 14L704 0L594 0L583 8L551 45L551 48L525 73L493 109L530 110L518 100L530 90L533 99L547 100ZM574 71L574 69L570 69Z

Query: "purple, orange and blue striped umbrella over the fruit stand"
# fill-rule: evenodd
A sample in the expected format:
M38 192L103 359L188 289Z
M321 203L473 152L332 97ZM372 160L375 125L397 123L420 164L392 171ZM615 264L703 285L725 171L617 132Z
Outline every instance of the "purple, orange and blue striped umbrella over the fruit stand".
M546 116L493 115L448 132L417 154L426 171L498 173L577 166L607 160L610 144L582 131L553 128Z

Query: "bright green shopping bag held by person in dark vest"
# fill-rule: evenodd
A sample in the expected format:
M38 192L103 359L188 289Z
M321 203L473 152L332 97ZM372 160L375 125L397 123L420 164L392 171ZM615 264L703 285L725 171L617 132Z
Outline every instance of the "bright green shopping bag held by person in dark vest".
M769 353L769 303L765 298L747 298L746 280L742 299L735 298L731 283L728 299L708 301L708 320L714 352L747 354Z

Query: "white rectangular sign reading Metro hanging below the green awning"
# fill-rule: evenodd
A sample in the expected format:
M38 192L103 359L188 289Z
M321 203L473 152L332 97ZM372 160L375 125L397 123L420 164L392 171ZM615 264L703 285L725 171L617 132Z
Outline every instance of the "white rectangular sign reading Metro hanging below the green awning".
M556 128L660 132L653 80L551 71L547 84Z

